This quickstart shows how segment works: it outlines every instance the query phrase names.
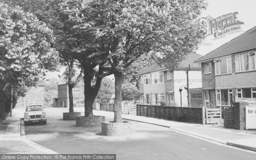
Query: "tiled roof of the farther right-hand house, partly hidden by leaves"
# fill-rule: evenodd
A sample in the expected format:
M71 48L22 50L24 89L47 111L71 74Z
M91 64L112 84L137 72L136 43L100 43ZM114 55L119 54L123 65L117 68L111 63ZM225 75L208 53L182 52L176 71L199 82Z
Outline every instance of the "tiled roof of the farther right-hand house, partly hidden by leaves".
M190 64L190 68L192 69L201 69L201 65L200 64L196 64L194 63L195 60L197 60L198 58L201 58L201 55L198 55L197 53L189 53L189 55L186 57L186 59L184 61L182 61L179 65L179 67L175 68L175 69L188 69L189 68L189 64ZM157 72L160 70L168 70L168 68L166 68L165 66L160 66L159 64L155 63L150 65L149 67L145 68L144 70L142 70L141 72L137 73L135 76L140 76L146 73L151 73L151 72Z

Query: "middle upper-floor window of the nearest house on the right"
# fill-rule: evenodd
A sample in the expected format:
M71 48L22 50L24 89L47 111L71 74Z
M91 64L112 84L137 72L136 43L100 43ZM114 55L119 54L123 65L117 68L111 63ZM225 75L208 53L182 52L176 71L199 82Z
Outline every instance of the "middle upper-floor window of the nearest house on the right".
M215 74L232 73L231 56L215 59Z

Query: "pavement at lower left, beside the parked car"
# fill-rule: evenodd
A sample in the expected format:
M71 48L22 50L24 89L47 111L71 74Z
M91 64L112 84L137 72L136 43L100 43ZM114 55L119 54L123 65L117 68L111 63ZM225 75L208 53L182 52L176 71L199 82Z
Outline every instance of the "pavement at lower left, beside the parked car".
M26 139L23 121L24 108L13 109L0 125L0 154L57 154Z

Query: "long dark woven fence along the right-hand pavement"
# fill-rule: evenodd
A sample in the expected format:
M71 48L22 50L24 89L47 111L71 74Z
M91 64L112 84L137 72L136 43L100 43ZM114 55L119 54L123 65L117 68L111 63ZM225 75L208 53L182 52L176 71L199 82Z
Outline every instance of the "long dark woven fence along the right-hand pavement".
M202 108L137 105L137 116L202 124Z

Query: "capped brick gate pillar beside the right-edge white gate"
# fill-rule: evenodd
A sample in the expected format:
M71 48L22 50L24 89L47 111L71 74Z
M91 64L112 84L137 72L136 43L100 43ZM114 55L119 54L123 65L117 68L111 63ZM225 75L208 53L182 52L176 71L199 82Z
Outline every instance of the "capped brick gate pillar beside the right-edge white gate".
M243 130L245 127L245 106L248 105L247 102L239 101L234 104L234 128Z

